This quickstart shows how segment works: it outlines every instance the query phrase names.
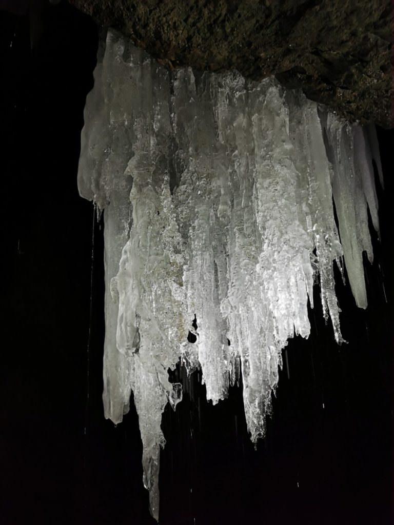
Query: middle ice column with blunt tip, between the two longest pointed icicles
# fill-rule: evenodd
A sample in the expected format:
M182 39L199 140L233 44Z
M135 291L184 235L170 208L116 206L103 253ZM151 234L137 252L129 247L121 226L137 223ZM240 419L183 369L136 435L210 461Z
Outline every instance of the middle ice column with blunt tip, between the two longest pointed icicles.
M227 292L227 267L224 225L217 214L227 161L216 140L211 89L210 77L203 75L197 90L190 69L178 72L174 79L174 139L180 166L174 204L186 255L185 312L188 320L194 315L197 319L195 346L207 398L215 404L227 396L233 360L220 312Z

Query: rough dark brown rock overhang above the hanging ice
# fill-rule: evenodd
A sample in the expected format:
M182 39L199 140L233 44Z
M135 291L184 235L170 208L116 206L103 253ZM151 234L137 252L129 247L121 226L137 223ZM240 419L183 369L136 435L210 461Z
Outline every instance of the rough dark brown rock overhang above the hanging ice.
M394 126L389 0L70 0L169 67L276 75L360 122Z

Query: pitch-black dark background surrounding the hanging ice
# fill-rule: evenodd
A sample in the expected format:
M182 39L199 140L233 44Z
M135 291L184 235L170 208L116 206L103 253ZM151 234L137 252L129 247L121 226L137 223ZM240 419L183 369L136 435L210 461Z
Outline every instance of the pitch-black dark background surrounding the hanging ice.
M0 12L0 522L152 524L135 409L117 427L103 418L102 225L92 264L93 208L77 191L97 29L61 2L40 13L33 49L29 34L28 15ZM163 415L161 524L394 522L394 135L378 133L386 190L368 309L337 280L349 344L335 344L316 289L312 333L285 350L257 450L241 388L213 407L200 375L181 371L184 400Z

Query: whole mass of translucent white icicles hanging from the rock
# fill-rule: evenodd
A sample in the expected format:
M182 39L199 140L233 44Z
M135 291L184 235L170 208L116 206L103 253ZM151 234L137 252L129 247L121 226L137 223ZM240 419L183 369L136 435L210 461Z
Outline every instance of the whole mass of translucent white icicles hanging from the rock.
M314 283L338 343L334 264L343 271L345 260L366 308L368 208L379 227L375 133L272 78L169 71L109 32L86 102L78 185L105 208L105 416L119 423L133 392L156 519L161 415L182 398L168 369L179 359L189 373L201 366L217 403L242 366L255 442L282 349L309 335Z

